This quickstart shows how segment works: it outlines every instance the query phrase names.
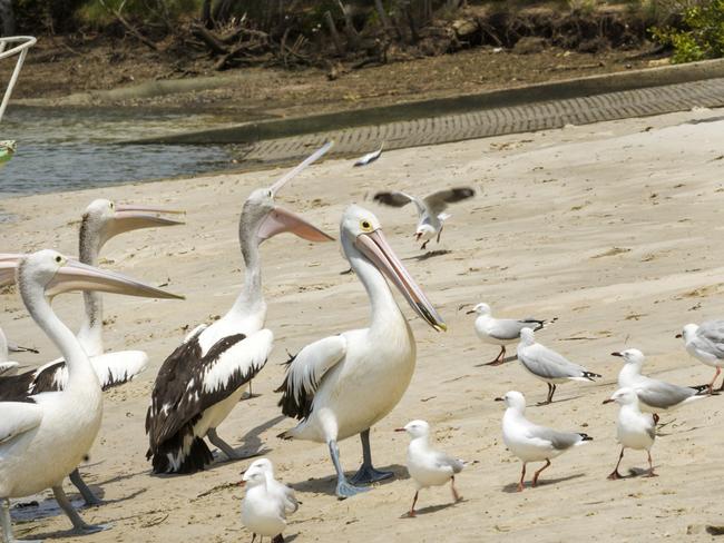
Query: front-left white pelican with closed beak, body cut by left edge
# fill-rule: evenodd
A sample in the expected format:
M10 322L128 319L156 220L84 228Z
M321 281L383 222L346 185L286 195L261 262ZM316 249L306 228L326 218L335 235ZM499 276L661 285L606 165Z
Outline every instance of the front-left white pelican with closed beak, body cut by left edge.
M60 392L0 402L0 524L4 543L13 542L10 498L52 488L75 532L92 533L104 526L86 524L62 490L62 480L88 454L102 415L98 376L82 346L50 307L48 298L70 290L102 290L154 298L180 298L112 272L68 260L55 250L41 250L17 267L22 302L33 320L56 344L68 364L68 381ZM1 274L0 274L1 275Z

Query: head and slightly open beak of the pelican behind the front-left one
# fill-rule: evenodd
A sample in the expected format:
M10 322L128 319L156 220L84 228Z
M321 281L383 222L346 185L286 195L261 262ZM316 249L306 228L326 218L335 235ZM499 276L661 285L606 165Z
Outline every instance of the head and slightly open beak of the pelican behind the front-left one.
M100 250L114 236L140 228L183 225L180 220L164 218L160 214L178 215L185 211L158 206L116 204L99 198L90 203L80 223L80 251Z

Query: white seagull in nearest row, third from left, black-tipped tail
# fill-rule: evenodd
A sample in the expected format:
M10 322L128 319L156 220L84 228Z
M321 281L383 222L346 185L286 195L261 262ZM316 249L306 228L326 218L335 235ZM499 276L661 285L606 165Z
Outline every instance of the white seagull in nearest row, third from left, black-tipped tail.
M550 465L550 458L593 440L588 434L558 432L531 423L524 416L526 398L519 392L510 391L505 396L496 398L496 402L506 403L506 414L502 416L502 441L508 450L522 461L518 492L522 492L528 462L546 461L546 465L532 476L532 486L536 486L540 473Z

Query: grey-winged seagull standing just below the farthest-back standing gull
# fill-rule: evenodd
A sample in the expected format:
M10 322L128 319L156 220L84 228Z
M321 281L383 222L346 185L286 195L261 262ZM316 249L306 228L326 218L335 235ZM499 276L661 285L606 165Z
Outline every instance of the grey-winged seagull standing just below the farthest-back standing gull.
M530 328L520 330L518 344L518 359L522 367L535 377L548 384L548 397L541 405L552 402L556 386L568 381L594 381L600 375L587 371L585 367L569 362L555 351L536 343L536 334Z

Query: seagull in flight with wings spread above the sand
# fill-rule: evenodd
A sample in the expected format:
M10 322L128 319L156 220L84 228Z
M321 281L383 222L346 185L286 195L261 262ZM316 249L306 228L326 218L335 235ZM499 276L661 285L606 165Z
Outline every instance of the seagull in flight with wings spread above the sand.
M470 187L458 187L432 192L422 198L422 200L397 190L391 192L378 192L372 199L379 204L392 207L402 207L412 201L418 208L419 217L414 237L418 241L424 239L422 247L420 247L421 250L424 250L428 246L428 241L430 241L436 234L438 236L438 243L440 243L443 223L450 218L450 215L443 213L448 208L448 204L467 200L468 198L472 198L474 195L476 191Z

